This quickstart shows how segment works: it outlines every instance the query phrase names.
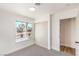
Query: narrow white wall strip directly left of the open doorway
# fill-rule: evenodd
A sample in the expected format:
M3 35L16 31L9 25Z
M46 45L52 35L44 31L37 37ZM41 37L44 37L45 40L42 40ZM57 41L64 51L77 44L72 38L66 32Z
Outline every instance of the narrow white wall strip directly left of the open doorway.
M60 39L59 39L59 19L55 14L52 16L52 49L59 51Z

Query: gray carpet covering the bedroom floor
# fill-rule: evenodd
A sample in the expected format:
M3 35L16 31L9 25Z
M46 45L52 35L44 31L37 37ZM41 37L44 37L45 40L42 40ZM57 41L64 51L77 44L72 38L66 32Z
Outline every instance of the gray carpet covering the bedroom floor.
M60 53L55 50L47 50L46 48L40 47L38 45L32 45L26 47L14 53L8 54L6 56L70 56L69 54Z

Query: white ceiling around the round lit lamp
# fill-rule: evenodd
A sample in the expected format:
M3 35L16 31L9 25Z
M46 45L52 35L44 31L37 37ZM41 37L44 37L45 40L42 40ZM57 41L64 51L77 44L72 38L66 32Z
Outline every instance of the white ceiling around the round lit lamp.
M36 6L34 3L0 3L0 8L2 9L36 19L46 14L72 9L78 6L79 4L77 3L41 3L40 6ZM36 11L29 11L30 7L35 7Z

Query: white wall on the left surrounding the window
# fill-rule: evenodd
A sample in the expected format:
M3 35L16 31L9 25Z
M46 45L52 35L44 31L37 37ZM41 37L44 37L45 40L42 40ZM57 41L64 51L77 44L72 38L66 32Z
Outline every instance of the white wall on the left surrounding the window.
M16 20L21 18L23 16L0 9L0 54L7 54L34 43L34 40L16 43Z

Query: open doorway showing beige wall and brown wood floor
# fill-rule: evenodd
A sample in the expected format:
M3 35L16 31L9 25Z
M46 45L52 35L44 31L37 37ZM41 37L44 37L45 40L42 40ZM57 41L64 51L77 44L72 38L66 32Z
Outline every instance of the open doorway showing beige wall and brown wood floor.
M60 51L75 55L75 19L60 20Z

